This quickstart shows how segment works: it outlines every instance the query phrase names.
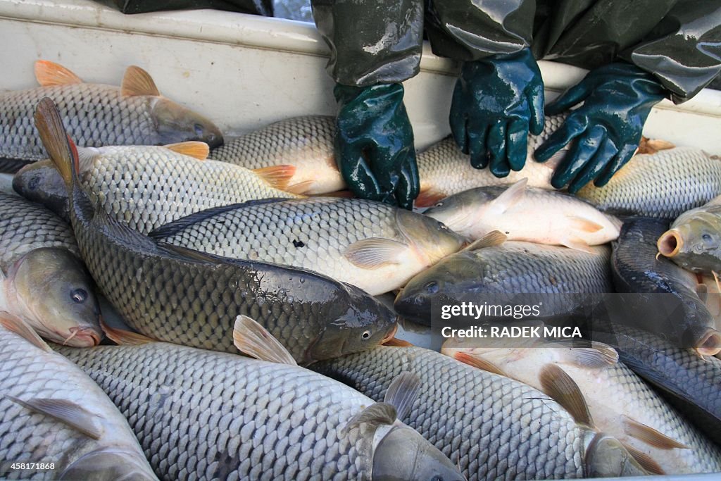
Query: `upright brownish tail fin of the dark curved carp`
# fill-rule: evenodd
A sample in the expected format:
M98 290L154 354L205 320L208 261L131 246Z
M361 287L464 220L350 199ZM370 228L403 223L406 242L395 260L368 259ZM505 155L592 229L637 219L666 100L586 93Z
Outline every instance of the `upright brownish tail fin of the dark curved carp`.
M63 127L63 118L58 112L58 107L48 97L37 103L35 127L53 164L68 188L71 187L79 171L78 151Z

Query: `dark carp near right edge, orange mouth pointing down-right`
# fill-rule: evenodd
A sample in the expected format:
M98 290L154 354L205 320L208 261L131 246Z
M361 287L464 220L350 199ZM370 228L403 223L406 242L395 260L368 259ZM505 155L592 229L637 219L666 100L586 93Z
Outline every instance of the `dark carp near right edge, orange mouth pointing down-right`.
M721 351L721 334L696 294L694 275L658 256L656 241L667 227L668 221L645 218L622 226L611 256L614 286L637 296L628 298L617 322L659 332L673 345L713 356Z

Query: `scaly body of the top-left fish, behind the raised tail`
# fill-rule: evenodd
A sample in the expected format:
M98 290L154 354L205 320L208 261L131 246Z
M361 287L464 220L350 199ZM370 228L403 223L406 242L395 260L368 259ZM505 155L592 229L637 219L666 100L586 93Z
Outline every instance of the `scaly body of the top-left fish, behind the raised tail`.
M0 94L0 157L28 162L47 159L32 115L35 105L50 97L61 112L63 125L77 144L87 147L158 144L149 98L123 96L103 84L66 84Z

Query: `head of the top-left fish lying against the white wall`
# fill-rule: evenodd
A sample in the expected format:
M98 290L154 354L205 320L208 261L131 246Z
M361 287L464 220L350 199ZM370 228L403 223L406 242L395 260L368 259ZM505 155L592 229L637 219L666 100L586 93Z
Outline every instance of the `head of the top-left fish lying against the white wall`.
M205 142L211 149L223 145L223 134L211 120L165 97L155 97L151 116L158 135L158 144L185 141Z

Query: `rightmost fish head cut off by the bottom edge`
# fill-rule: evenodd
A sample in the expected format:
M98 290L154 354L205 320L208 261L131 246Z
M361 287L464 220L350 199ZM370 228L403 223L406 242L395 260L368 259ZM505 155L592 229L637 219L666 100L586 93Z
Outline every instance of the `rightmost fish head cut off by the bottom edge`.
M588 431L590 443L585 449L586 477L645 476L651 473L640 466L616 438Z

